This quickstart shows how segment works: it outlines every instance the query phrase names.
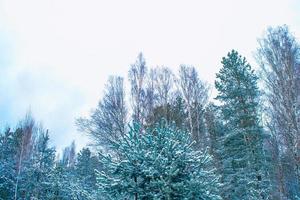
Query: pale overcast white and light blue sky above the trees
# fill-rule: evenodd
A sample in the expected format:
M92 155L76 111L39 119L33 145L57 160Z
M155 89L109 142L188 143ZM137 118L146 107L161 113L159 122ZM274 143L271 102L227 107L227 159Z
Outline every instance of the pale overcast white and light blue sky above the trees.
M299 0L0 0L0 126L30 110L52 145L80 149L75 119L139 52L149 67L193 65L213 84L228 51L255 67L257 39L283 24L300 39Z

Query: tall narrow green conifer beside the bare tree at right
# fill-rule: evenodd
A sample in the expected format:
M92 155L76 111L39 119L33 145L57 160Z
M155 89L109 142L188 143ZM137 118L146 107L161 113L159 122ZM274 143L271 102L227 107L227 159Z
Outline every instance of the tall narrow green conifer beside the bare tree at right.
M215 86L227 127L222 147L224 199L268 199L257 76L235 50L222 64Z

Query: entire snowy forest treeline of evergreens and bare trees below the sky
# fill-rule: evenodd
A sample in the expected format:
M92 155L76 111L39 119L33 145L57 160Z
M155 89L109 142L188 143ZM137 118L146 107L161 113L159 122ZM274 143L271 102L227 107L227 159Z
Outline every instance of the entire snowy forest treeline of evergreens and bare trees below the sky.
M149 68L139 54L129 94L110 76L77 119L92 143L79 153L73 142L57 156L26 115L0 134L0 199L300 199L300 44L269 28L255 59L254 72L236 50L223 57L211 98L194 66Z

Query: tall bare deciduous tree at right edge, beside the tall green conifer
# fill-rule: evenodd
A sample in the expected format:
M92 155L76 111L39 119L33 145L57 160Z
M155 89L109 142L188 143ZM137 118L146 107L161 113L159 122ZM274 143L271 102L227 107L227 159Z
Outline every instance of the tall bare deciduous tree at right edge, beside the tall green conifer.
M266 123L272 146L279 145L279 157L290 157L290 168L300 180L300 46L287 26L269 28L259 40L257 61L261 66L266 102ZM276 150L277 148L273 148ZM284 169L286 163L278 163ZM285 165L286 166L286 165ZM282 177L284 171L278 172ZM283 181L282 181L283 182ZM283 184L283 185L282 185ZM285 193L285 184L279 187ZM300 188L298 188L299 190Z

